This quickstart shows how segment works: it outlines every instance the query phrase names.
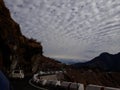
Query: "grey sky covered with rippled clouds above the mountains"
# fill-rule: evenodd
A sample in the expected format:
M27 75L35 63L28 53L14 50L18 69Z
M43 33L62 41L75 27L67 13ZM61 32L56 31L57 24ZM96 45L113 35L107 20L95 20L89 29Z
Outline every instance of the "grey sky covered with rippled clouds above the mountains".
M120 0L5 0L22 33L52 58L120 52Z

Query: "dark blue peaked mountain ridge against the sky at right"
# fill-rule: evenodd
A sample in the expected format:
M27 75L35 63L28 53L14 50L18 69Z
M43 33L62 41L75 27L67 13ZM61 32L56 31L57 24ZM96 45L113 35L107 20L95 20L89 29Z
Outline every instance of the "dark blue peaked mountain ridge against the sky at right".
M72 66L75 68L98 68L105 71L120 71L120 53L113 55L104 52L91 61L76 63Z

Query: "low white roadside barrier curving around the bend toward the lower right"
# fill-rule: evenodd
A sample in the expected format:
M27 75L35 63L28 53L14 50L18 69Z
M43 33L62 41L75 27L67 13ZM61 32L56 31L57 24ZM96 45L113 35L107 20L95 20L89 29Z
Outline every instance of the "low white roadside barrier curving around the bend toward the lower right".
M50 90L120 90L120 88L105 87L99 85L89 84L86 87L84 84L57 80L45 80L38 78L39 74L34 74L33 79L30 80L30 84L41 90L49 90L49 88L54 88ZM33 82L33 83L31 83ZM43 88L41 88L43 87ZM48 89L44 89L44 87ZM56 89L55 89L56 88Z

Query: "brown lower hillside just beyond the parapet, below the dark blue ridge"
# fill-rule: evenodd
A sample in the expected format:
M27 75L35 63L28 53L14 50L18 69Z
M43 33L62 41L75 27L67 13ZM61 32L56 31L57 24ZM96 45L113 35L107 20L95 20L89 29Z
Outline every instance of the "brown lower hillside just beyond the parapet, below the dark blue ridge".
M70 81L80 82L85 85L94 84L108 87L120 88L119 72L104 72L99 69L71 69L67 70Z

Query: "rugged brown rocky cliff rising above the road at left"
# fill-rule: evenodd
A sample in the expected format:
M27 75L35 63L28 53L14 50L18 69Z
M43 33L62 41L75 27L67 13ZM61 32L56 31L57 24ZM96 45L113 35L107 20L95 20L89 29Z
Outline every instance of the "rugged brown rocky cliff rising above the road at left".
M42 53L41 44L22 35L19 25L11 18L3 0L0 0L0 67L4 70L23 68L35 72L40 60L46 58ZM35 58L39 58L38 61ZM39 65L35 68L36 62ZM56 61L54 63L58 64Z

